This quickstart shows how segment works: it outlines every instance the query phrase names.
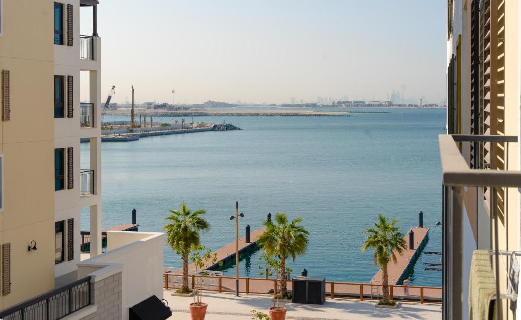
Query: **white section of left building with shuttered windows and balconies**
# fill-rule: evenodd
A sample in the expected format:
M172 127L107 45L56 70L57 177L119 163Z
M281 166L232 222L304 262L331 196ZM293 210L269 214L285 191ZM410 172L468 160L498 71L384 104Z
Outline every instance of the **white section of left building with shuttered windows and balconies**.
M79 0L56 0L64 5L64 45L54 45L55 75L65 76L64 81L64 114L63 118L55 118L55 148L74 148L74 188L67 189L67 176L65 176L65 189L55 192L55 221L73 218L74 223L74 259L67 259L67 241L65 241L65 261L56 264L55 276L59 277L76 270L80 262L80 231L81 208L91 206L91 232L98 235L100 241L91 240L91 255L101 253L101 147L100 143L91 143L90 167L81 167L80 139L91 138L91 141L101 142L100 128L100 84L101 84L101 39L93 37L95 46L94 60L80 59L80 2ZM73 14L73 45L67 46L67 4L72 5ZM82 10L91 10L83 7ZM89 16L92 19L91 15ZM82 97L80 93L80 71L91 71L90 95ZM73 76L73 117L67 117L67 76ZM94 128L82 128L80 124L80 101L89 100L94 104ZM94 140L92 140L94 139ZM67 158L67 156L66 156ZM95 173L94 195L81 196L81 169L93 169ZM65 165L67 173L67 163ZM67 229L67 228L66 228ZM66 230L67 232L67 230ZM65 233L67 240L67 234Z

